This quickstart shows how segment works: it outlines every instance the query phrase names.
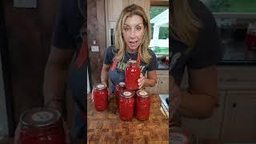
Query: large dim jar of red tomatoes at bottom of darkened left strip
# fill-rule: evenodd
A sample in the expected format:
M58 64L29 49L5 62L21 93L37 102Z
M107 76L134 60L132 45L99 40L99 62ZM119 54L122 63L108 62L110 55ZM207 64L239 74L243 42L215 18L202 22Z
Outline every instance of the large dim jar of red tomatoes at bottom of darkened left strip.
M26 110L20 117L19 144L64 144L61 114L53 109Z

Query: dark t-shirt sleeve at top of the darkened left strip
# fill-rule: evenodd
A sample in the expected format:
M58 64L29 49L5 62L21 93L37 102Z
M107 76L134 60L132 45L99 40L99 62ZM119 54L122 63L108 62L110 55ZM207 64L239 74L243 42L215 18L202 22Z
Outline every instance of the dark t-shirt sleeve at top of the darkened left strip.
M56 22L54 32L51 40L51 45L58 49L74 49L76 47L74 38L70 34L70 29L67 23L68 2L61 0L58 2L58 13L56 15Z

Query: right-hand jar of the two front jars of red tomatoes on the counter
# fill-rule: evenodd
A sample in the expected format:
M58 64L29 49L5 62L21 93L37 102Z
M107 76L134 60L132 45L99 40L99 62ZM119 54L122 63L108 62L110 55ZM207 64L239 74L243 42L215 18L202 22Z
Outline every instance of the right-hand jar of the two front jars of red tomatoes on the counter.
M150 93L146 90L138 90L136 95L136 118L138 120L146 120L150 117Z

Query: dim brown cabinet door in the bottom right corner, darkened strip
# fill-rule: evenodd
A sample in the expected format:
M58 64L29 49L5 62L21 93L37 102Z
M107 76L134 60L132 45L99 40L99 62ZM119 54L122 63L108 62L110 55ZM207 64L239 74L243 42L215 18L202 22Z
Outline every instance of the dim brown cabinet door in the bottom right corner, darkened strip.
M224 142L256 142L256 90L229 90L226 97Z

